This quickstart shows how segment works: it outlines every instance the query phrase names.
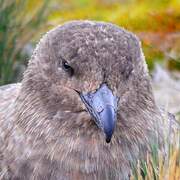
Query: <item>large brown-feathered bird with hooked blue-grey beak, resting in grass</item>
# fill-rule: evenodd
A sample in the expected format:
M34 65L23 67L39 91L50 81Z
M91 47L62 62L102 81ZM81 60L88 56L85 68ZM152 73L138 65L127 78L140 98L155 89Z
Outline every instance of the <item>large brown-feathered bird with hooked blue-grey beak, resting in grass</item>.
M163 136L141 42L108 22L53 28L0 87L3 180L129 179Z

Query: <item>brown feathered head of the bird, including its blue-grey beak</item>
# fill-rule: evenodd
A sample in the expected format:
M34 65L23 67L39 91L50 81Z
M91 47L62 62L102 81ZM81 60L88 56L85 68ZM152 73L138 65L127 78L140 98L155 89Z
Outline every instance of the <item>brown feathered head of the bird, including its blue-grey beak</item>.
M24 108L30 116L21 124L29 132L41 127L54 138L62 132L98 132L106 142L113 133L133 136L148 127L154 110L139 40L108 23L73 21L49 31L29 62L23 91L20 101L30 104Z

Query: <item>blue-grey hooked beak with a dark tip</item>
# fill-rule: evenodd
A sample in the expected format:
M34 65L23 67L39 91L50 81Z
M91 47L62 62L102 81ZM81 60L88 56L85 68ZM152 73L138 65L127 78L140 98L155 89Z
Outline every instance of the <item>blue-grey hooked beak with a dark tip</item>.
M102 84L94 93L79 93L79 95L97 126L105 133L106 142L109 143L116 125L118 98L106 84Z

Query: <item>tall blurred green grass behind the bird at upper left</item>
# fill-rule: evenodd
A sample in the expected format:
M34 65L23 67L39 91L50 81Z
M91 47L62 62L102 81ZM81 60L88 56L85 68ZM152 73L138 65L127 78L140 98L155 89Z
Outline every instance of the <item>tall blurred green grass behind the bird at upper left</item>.
M0 0L0 85L15 81L22 49L45 25L48 0Z

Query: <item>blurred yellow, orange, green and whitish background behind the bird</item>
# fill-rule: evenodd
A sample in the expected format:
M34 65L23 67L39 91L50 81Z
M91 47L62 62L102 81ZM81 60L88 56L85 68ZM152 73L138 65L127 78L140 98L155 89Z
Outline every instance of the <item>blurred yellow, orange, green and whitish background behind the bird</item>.
M0 85L21 81L42 35L74 19L137 34L157 101L180 114L180 0L0 0Z

